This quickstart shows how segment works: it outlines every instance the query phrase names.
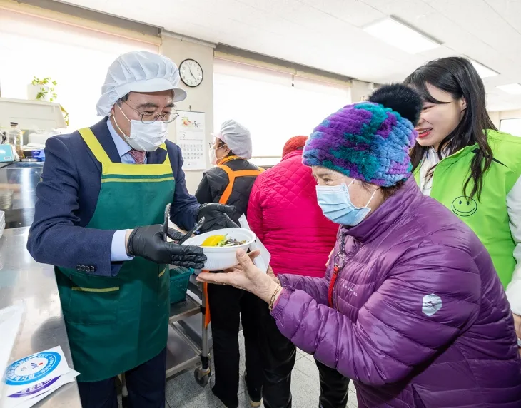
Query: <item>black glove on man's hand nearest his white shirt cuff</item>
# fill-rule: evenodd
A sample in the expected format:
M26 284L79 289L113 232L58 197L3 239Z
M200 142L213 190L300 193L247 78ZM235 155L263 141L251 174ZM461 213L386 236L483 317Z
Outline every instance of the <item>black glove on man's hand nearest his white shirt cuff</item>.
M173 240L180 240L182 236L182 233L168 228L168 237ZM159 264L203 269L206 261L201 247L167 243L163 238L163 225L135 228L128 237L126 248L128 255L141 256Z

